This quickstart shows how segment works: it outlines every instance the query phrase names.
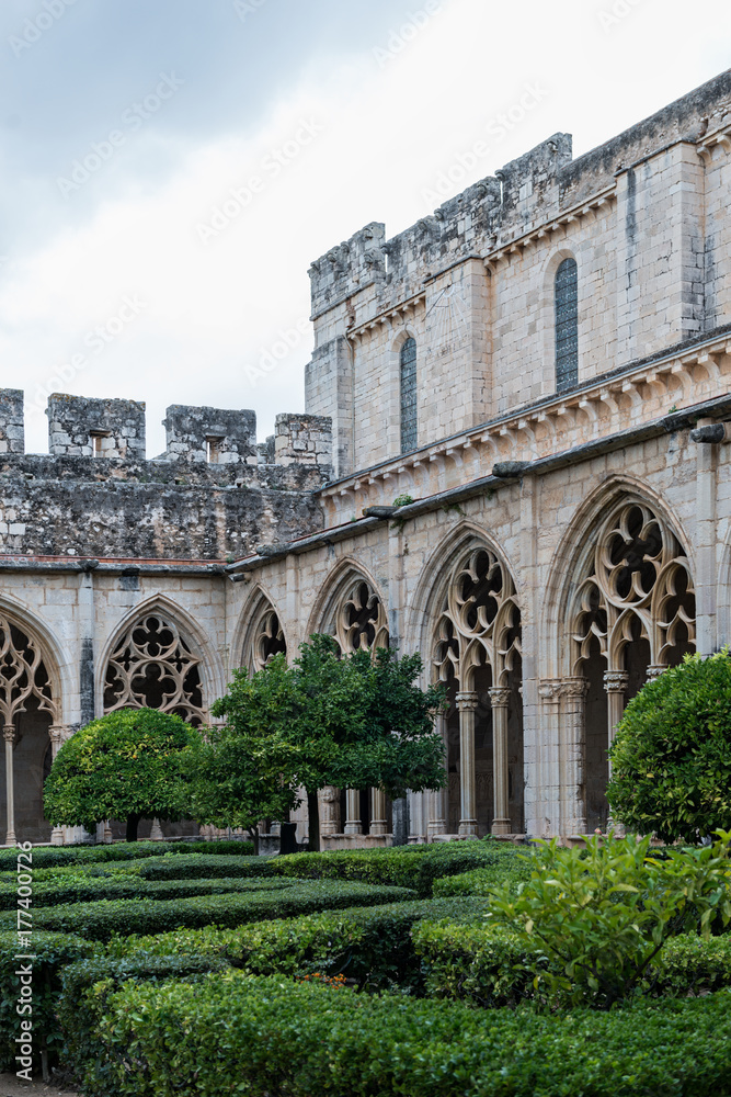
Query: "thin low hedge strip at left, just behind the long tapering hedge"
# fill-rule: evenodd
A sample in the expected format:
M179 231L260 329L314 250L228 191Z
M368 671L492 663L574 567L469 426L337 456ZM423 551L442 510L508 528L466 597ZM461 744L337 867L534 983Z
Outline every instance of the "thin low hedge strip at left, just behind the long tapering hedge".
M230 892L278 891L292 887L294 880L247 880L226 877L209 880L169 879L148 881L138 874L125 873L112 878L84 877L81 873L59 880L33 882L33 909L62 903L88 903L104 898L187 898L192 895L224 895ZM18 906L15 883L0 882L0 909Z

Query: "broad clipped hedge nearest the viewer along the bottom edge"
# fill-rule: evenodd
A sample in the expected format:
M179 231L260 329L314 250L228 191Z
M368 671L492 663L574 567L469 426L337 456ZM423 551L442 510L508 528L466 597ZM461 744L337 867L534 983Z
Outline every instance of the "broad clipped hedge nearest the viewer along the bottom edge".
M94 1039L89 1097L708 1097L731 1088L731 996L596 1014L295 984L230 971L129 983Z

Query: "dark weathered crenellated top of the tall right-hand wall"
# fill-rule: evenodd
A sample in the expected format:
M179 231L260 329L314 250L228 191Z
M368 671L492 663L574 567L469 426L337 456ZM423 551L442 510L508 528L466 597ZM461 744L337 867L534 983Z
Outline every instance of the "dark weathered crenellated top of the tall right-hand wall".
M312 317L367 285L384 308L408 299L450 261L502 248L612 186L618 171L676 140L701 140L730 115L731 69L576 160L571 135L556 133L388 240L372 222L311 264Z

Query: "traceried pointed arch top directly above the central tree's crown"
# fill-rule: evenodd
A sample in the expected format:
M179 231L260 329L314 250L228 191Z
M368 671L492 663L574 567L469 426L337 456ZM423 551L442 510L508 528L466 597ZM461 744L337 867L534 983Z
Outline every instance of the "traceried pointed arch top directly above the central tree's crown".
M388 647L388 610L373 576L350 557L325 580L310 614L308 635L334 636L342 652Z

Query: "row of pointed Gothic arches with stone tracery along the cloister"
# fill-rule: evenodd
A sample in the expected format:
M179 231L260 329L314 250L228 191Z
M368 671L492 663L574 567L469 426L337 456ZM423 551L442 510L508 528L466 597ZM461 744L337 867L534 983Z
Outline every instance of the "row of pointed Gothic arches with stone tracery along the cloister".
M695 649L692 562L675 522L628 490L597 505L568 540L571 552L556 554L561 573L550 575L527 604L515 578L519 568L515 573L501 546L473 522L453 529L423 562L409 612L398 611L418 627L400 626L407 637L400 646L422 652L424 685L446 686L448 709L437 720L447 784L410 796L411 840L523 833L526 734L556 759L559 832L585 834L606 825L607 748L624 705L644 681ZM241 610L232 665L255 671L278 653L292 657L312 632L332 635L344 656L389 645L388 590L356 557L335 562L309 606L299 623L283 618L262 577ZM523 663L526 612L540 624L530 635L544 636L533 681L525 679ZM558 670L552 677L540 672L551 658ZM150 705L204 726L225 688L214 661L213 645L185 611L172 599L150 598L110 631L96 668L95 711ZM43 818L43 781L73 730L62 716L62 663L20 609L0 611L0 811L8 841L65 840ZM526 691L536 698L538 714L527 732ZM325 845L333 835L342 836L335 845L390 840L392 807L380 790L325 788L319 800ZM304 807L297 819L301 835ZM160 837L156 821L148 822L149 833ZM112 824L106 838L117 830ZM167 825L165 833L196 827ZM66 840L72 837L67 832Z

